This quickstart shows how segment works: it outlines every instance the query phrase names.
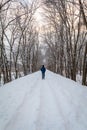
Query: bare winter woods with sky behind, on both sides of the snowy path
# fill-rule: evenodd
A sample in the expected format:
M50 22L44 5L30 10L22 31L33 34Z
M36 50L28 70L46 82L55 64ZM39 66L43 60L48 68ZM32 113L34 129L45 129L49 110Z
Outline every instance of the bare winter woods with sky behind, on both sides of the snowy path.
M0 0L0 84L43 64L87 85L86 0Z

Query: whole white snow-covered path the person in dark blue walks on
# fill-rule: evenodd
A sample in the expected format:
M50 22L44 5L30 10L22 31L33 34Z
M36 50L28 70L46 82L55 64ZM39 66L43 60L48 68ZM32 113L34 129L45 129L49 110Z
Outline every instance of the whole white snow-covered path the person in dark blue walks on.
M87 88L46 71L0 88L0 130L87 130Z

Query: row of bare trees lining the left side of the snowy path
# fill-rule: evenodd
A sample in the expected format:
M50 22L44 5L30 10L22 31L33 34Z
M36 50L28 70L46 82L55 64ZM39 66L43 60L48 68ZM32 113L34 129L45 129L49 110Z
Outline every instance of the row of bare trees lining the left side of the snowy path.
M38 7L37 0L0 1L0 82L38 69L40 51L34 19Z

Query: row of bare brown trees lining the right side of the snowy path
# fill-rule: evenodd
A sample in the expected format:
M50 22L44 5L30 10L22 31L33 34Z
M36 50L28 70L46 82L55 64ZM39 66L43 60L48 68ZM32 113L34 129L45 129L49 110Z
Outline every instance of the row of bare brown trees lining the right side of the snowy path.
M87 85L87 2L44 0L48 69Z

